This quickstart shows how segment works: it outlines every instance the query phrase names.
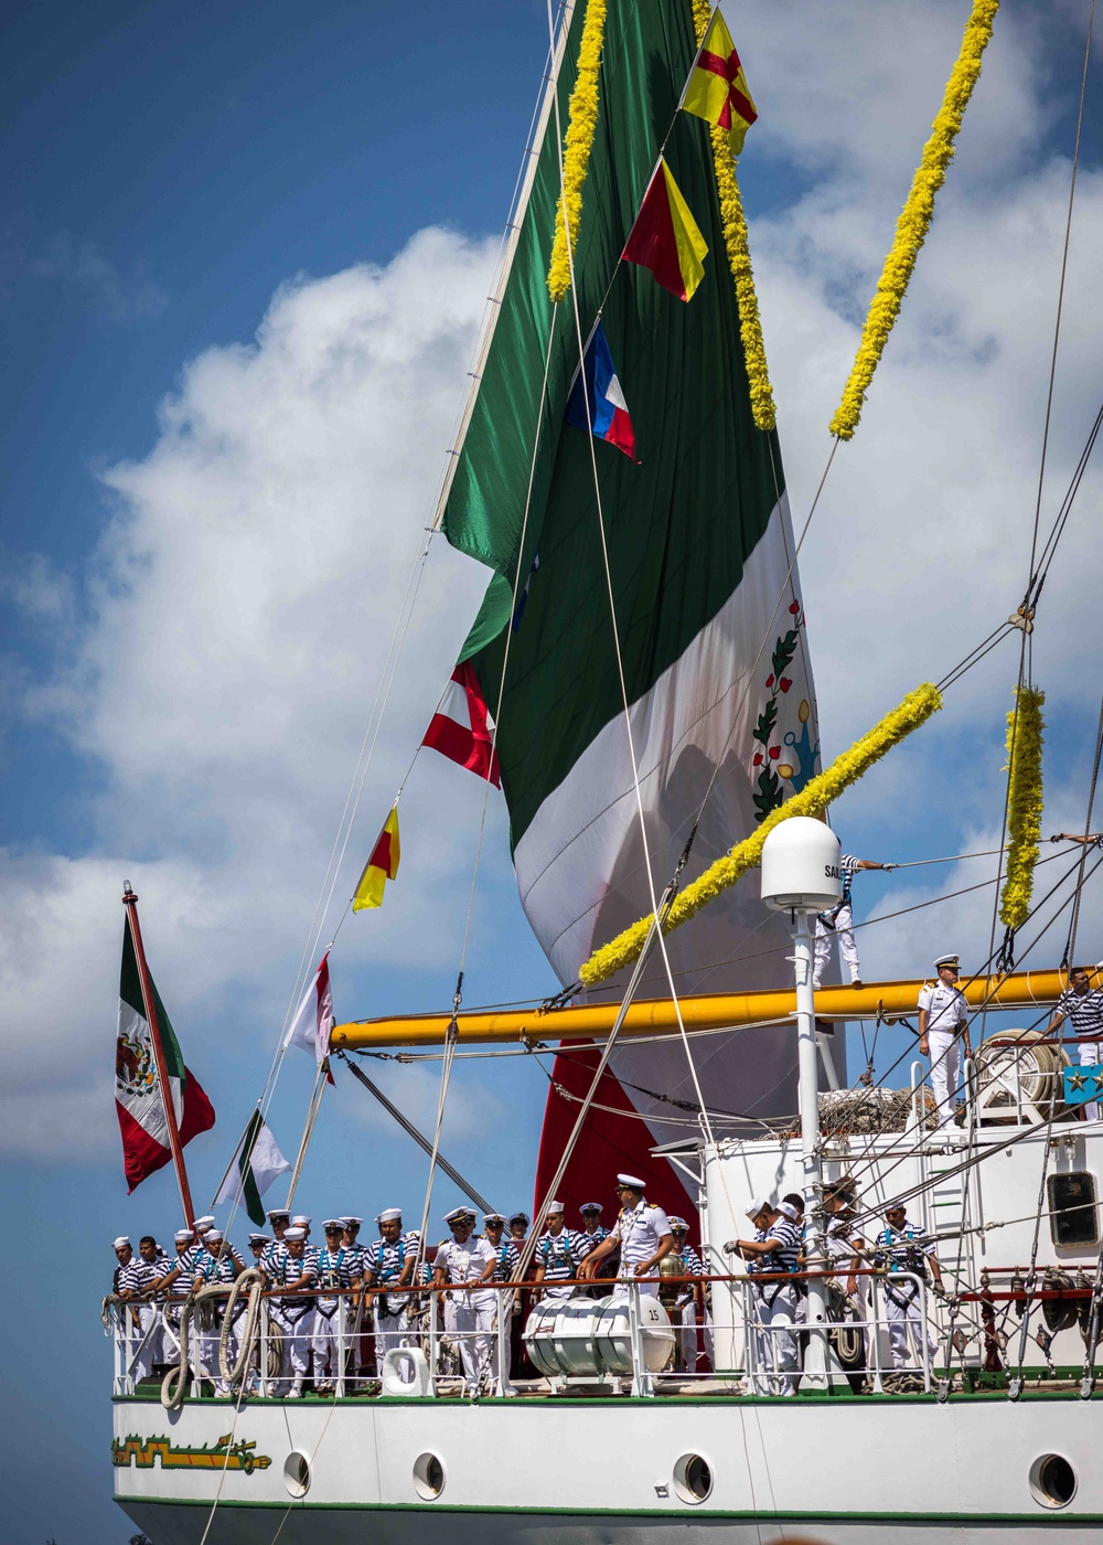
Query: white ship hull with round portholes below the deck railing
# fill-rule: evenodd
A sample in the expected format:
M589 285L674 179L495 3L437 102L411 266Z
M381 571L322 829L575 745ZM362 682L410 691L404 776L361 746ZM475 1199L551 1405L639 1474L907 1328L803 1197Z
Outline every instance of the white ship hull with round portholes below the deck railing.
M725 1545L800 1539L870 1545L908 1540L1103 1539L1103 1421L1069 1394L754 1400L250 1401L233 1441L270 1460L252 1472L195 1468L181 1451L216 1445L226 1401L117 1400L116 1440L167 1437L176 1455L116 1468L116 1497L154 1545L454 1545L459 1539ZM416 1462L436 1454L443 1488L417 1491ZM703 1455L712 1489L677 1494L677 1463ZM295 1455L309 1465L292 1497ZM1060 1509L1032 1472L1058 1454L1075 1474ZM145 1458L147 1455L141 1455ZM221 1463L221 1462L219 1462ZM286 1517L284 1517L286 1516Z

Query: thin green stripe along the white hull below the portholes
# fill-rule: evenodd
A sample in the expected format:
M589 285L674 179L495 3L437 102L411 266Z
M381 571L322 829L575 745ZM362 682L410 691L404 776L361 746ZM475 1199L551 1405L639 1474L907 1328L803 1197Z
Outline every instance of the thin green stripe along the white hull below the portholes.
M124 1497L116 1492L114 1502L125 1508L128 1502L147 1503L151 1506L171 1508L210 1508L210 1497ZM535 1514L541 1519L748 1519L760 1523L1103 1523L1103 1513L1060 1513L1038 1509L1038 1513L766 1513L755 1509L726 1508L465 1508L450 1502L306 1502L304 1499L287 1499L287 1502L239 1502L224 1497L219 1508L278 1508L287 1513L290 1508L303 1508L314 1513L511 1513Z

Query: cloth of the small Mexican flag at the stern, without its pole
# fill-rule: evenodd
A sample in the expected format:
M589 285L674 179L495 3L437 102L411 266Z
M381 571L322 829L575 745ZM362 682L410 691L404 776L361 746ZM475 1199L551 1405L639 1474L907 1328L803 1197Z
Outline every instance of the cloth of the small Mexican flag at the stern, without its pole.
M161 1032L161 1048L173 1100L181 1143L215 1125L215 1109L199 1082L184 1066L179 1043L165 1006L150 976L153 1009ZM127 1188L134 1190L154 1170L171 1159L168 1122L158 1082L158 1066L150 1040L150 1024L142 1001L142 980L130 932L130 913L122 932L122 972L119 978L119 1032L114 1043L114 1108L122 1132Z

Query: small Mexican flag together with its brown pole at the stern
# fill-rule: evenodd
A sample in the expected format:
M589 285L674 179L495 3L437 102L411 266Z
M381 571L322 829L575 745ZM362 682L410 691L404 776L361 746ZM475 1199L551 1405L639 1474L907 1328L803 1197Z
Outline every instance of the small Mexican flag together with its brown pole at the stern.
M193 1214L184 1145L215 1125L215 1111L198 1078L184 1066L171 1021L150 976L137 924L137 896L130 885L122 901L127 921L114 1041L114 1108L122 1131L127 1185L133 1191L171 1159L190 1228Z

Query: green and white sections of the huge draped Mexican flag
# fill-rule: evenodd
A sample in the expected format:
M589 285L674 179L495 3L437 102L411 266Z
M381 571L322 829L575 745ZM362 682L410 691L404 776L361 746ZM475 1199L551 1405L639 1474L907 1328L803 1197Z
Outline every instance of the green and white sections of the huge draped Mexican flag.
M584 9L561 36L443 508L448 541L494 570L465 658L496 712L508 646L496 717L513 857L525 913L564 984L593 947L650 912L652 885L661 895L695 823L686 879L803 786L819 752L780 447L751 414L709 130L678 113L697 53L691 0L609 0L575 289L558 307L548 298L559 196L552 93L565 128ZM709 247L689 303L646 269L618 264L661 147ZM564 423L579 341L599 309L640 465ZM513 592L525 584L518 616ZM751 874L670 936L681 990L783 978L785 924L763 913L757 891ZM655 964L647 992L667 992ZM613 1068L640 1114L692 1100L677 1043L626 1048ZM718 1109L796 1109L789 1034L717 1037L698 1068ZM657 1125L653 1136L672 1134Z

